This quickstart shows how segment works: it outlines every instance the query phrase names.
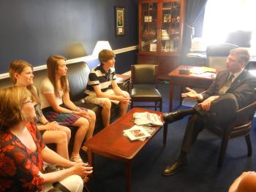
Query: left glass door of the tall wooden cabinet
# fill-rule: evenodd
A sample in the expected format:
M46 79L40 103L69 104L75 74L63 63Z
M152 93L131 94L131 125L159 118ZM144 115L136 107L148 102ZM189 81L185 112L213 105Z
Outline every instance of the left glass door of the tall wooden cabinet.
M142 3L140 16L140 51L157 52L157 3Z

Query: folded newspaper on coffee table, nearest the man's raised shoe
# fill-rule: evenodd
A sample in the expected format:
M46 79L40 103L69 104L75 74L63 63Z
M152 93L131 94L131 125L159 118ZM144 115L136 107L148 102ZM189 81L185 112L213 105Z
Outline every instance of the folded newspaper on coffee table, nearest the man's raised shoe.
M133 114L135 124L138 126L162 126L162 120L159 115L151 112L135 112Z

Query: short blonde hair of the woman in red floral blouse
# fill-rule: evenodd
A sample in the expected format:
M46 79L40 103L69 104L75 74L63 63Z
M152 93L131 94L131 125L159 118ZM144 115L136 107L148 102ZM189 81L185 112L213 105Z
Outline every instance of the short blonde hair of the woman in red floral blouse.
M0 90L0 127L10 128L26 120L21 109L23 102L31 97L31 92L24 87L10 87Z

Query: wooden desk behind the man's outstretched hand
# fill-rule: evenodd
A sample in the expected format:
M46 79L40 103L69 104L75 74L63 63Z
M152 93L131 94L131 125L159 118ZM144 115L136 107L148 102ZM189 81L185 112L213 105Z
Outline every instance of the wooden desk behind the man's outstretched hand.
M178 68L174 69L172 72L168 74L170 78L170 112L173 111L174 85L208 88L211 85L211 82L213 82L215 79L211 77L198 77L192 75L178 74L180 69L191 69L192 67L193 66L178 66Z

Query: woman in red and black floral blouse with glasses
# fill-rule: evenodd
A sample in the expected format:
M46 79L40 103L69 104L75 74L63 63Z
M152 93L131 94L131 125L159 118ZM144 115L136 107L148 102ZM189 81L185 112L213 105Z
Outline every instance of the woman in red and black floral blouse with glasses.
M92 167L75 163L50 150L34 124L31 93L22 87L0 90L0 191L48 191L62 185L83 191L83 180ZM67 169L43 173L43 161Z

